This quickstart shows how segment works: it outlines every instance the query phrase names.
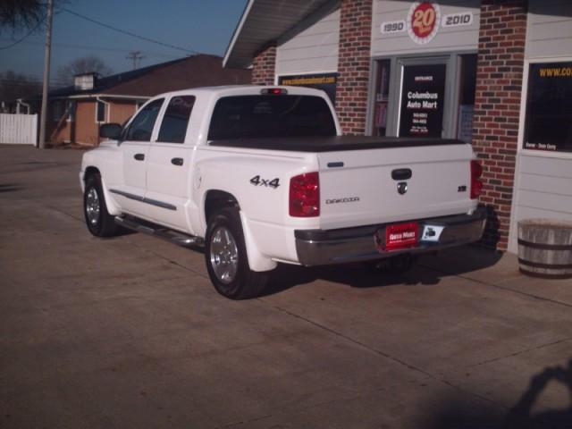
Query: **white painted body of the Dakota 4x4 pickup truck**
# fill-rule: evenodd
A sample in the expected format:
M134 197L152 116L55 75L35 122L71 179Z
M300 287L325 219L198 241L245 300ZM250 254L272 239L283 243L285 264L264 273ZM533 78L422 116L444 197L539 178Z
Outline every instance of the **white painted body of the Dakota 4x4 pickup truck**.
M206 237L209 195L223 192L239 207L248 265L254 272L271 270L278 262L317 265L386 257L389 253L375 247L374 234L379 236L376 231L383 231L384 225L392 223L415 221L420 225L416 245L398 249L397 253L425 251L437 244L465 244L481 237L484 214L477 211L477 200L470 195L475 180L471 177L470 165L475 156L470 145L447 140L442 140L442 144L417 144L411 139L378 139L372 143L368 138L335 136L308 138L308 147L303 146L302 138L297 138L296 144L288 139L208 139L211 118L220 99L254 97L264 91L277 91L266 97L287 93L323 99L332 114L334 132L341 136L330 100L315 89L240 86L174 92L155 97L141 107L143 110L154 102L161 104L156 100L164 100L151 134L146 136L148 141L104 141L83 156L82 190L88 175L96 172L110 215L130 216L199 239ZM194 105L184 140L159 141L159 129L164 117L166 122L165 110L170 101L191 96ZM137 114L124 130L138 121L135 118ZM319 177L319 215L292 216L290 180L311 172L317 172ZM392 178L394 172L405 174L405 179ZM400 186L405 192L398 191ZM466 216L470 231L461 233L458 240L442 243L439 237L427 236L424 244L427 227L434 226L433 231L442 233L439 219L443 216ZM358 246L357 253L344 250L337 254L334 250L329 259L324 259L328 251L320 246L348 247L335 234L343 236L340 231L360 228L367 230L367 239L359 239L362 248ZM300 231L312 232L304 236ZM332 239L318 242L311 236L320 231L333 234ZM367 255L364 240L371 248ZM318 248L321 258L314 262L311 255Z

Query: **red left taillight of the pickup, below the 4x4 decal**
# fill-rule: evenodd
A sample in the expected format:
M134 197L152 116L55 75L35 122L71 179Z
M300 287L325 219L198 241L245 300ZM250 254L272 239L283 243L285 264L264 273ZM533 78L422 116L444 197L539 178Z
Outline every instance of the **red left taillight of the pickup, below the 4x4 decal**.
M320 179L317 172L307 172L290 179L290 216L320 215Z

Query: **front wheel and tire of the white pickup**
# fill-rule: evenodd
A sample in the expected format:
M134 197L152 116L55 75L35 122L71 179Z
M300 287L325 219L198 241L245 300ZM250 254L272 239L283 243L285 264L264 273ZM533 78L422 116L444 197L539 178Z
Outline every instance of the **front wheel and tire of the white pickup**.
M96 237L113 237L119 231L114 216L107 212L99 174L91 174L86 180L83 193L83 214L89 232Z

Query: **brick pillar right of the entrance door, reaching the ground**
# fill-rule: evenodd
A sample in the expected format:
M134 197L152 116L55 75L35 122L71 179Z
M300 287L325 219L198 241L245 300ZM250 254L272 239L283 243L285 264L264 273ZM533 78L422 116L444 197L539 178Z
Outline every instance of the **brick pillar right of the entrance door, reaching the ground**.
M505 250L517 156L526 41L526 0L483 0L473 147L484 166L480 198L489 218L483 243Z

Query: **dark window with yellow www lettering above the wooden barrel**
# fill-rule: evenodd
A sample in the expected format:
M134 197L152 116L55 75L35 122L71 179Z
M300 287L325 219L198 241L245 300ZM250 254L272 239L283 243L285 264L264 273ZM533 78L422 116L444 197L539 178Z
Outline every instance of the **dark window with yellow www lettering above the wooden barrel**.
M524 148L572 152L572 62L531 64Z

